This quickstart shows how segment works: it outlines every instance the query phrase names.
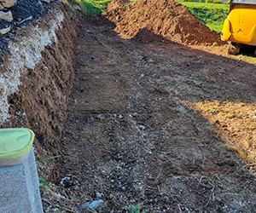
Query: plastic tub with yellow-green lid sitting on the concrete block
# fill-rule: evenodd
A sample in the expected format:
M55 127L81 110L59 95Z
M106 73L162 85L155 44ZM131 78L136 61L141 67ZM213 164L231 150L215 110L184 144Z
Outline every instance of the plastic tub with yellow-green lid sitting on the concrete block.
M0 167L24 163L34 138L32 130L25 128L0 129Z

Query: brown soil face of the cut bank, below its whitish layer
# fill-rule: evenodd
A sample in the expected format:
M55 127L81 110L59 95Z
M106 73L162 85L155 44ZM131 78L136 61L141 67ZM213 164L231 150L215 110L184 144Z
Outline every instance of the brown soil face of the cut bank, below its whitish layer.
M22 35L18 36L16 33L17 43L20 37L23 43L27 37L32 36L33 27L48 35L51 33L50 21L55 19L57 13L64 14L61 26L55 31L56 40L52 39L41 51L41 60L38 60L33 68L26 67L21 71L22 84L15 94L8 97L9 120L1 126L26 127L33 130L36 135L33 146L37 160L60 154L60 139L67 119L67 101L73 87L73 56L79 32L77 20L74 20L72 12L65 9L65 6L51 4L49 12L46 17L34 20L23 29ZM32 37L30 40L33 42L33 39L35 38ZM45 40L47 39L46 37ZM15 42L12 45L15 45ZM35 53L36 51L33 52ZM12 58L13 55L8 57ZM33 57L37 58L38 55ZM17 64L19 62L17 61ZM3 72L9 73L8 70ZM40 175L44 175L49 181L55 181L59 169L57 159L38 164Z

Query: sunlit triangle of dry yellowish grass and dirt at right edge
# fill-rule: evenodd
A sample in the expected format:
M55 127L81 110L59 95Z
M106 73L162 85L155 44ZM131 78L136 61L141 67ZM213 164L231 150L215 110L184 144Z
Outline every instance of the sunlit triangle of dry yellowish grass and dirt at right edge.
M189 102L190 107L209 121L212 130L237 155L256 165L256 104L241 101ZM256 166L253 169L256 171Z

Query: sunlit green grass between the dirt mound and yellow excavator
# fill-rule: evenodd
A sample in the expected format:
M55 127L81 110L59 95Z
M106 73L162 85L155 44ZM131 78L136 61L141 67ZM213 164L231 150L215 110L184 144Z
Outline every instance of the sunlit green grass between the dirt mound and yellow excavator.
M221 32L224 20L230 12L229 4L179 2L187 7L191 14L206 24L212 31Z

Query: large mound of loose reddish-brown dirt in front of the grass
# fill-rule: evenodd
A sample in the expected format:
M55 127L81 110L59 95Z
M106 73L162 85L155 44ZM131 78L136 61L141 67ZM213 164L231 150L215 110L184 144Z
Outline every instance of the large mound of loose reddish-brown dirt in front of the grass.
M113 0L103 13L116 24L115 32L122 38L136 37L143 43L152 41L148 31L181 44L222 43L217 33L197 20L180 3L173 0L141 0L130 3ZM143 32L141 32L143 30ZM141 32L137 35L138 32Z

